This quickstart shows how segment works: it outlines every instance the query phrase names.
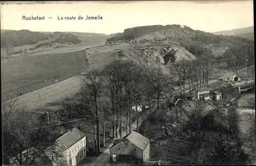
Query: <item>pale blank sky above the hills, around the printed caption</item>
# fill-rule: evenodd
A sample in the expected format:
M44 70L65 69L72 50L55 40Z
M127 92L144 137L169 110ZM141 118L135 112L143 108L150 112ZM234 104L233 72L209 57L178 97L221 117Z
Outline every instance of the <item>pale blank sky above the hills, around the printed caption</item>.
M61 4L62 3L62 4ZM45 20L22 20L23 16ZM97 16L103 20L58 20L59 17ZM48 17L53 17L49 19ZM1 29L44 32L112 34L143 25L181 24L217 32L253 26L253 1L59 2L58 4L1 5Z

